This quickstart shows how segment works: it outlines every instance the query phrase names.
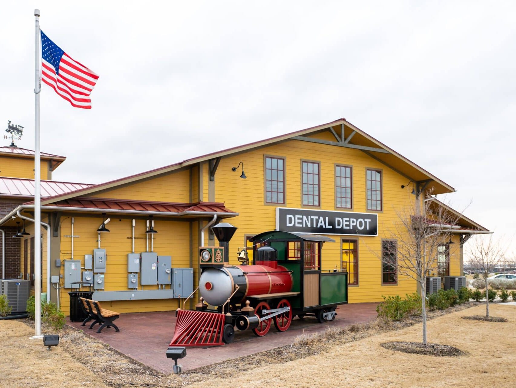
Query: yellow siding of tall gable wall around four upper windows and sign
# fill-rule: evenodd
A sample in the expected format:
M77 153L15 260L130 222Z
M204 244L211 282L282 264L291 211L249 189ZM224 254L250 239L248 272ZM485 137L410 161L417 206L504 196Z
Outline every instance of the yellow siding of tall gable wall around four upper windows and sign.
M286 205L264 204L264 154L285 158ZM221 159L215 178L216 200L224 201L228 208L240 213L228 220L238 227L230 244L230 262L237 263L236 254L233 253L237 246L244 246L244 235L276 228L276 206L303 207L301 159L320 162L320 202L323 210L335 209L335 163L353 166L354 212L372 212L366 209L366 168L377 168L383 172L383 211L378 213L378 237L342 236L359 240L359 286L349 288L349 302L380 301L382 295L404 295L416 291L416 283L409 277L398 276L397 285L381 284L381 239L394 235L392 225L398 220L396 209L408 207L415 200L409 188L400 188L407 183L407 178L360 150L344 147L293 140ZM238 171L231 170L240 161L244 162L245 180L239 178ZM341 268L341 236L329 237L336 241L325 243L322 249L323 269L333 269L335 265Z

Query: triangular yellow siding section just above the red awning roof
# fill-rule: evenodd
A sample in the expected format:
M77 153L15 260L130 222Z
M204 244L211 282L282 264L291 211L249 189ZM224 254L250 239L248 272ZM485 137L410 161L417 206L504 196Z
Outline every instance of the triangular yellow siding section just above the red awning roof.
M100 198L135 199L188 203L190 200L190 172L188 169L162 177L143 180L91 195Z

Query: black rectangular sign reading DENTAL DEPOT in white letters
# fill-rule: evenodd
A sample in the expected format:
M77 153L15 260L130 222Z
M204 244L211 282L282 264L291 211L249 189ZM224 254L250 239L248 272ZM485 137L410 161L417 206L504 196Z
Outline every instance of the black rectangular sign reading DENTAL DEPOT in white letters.
M378 214L276 208L276 230L317 235L378 236Z

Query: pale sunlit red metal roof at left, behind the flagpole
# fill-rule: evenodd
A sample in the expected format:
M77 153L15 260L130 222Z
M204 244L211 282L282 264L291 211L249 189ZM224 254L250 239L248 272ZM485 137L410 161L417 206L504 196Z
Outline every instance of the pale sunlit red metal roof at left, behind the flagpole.
M42 180L41 196L51 197L90 186L92 184ZM0 177L0 196L34 197L34 179Z

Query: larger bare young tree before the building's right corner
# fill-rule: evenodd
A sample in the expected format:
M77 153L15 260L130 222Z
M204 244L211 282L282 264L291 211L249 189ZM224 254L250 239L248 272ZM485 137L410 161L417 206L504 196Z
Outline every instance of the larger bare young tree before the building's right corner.
M427 197L430 197L427 193ZM412 206L397 210L397 221L387 228L387 235L397 241L382 241L383 268L393 269L399 276L413 278L421 290L423 344L427 341L426 279L432 272L449 266L449 255L443 252L456 230L459 216L440 201L428 198L423 206L416 201ZM441 250L441 251L440 251Z

